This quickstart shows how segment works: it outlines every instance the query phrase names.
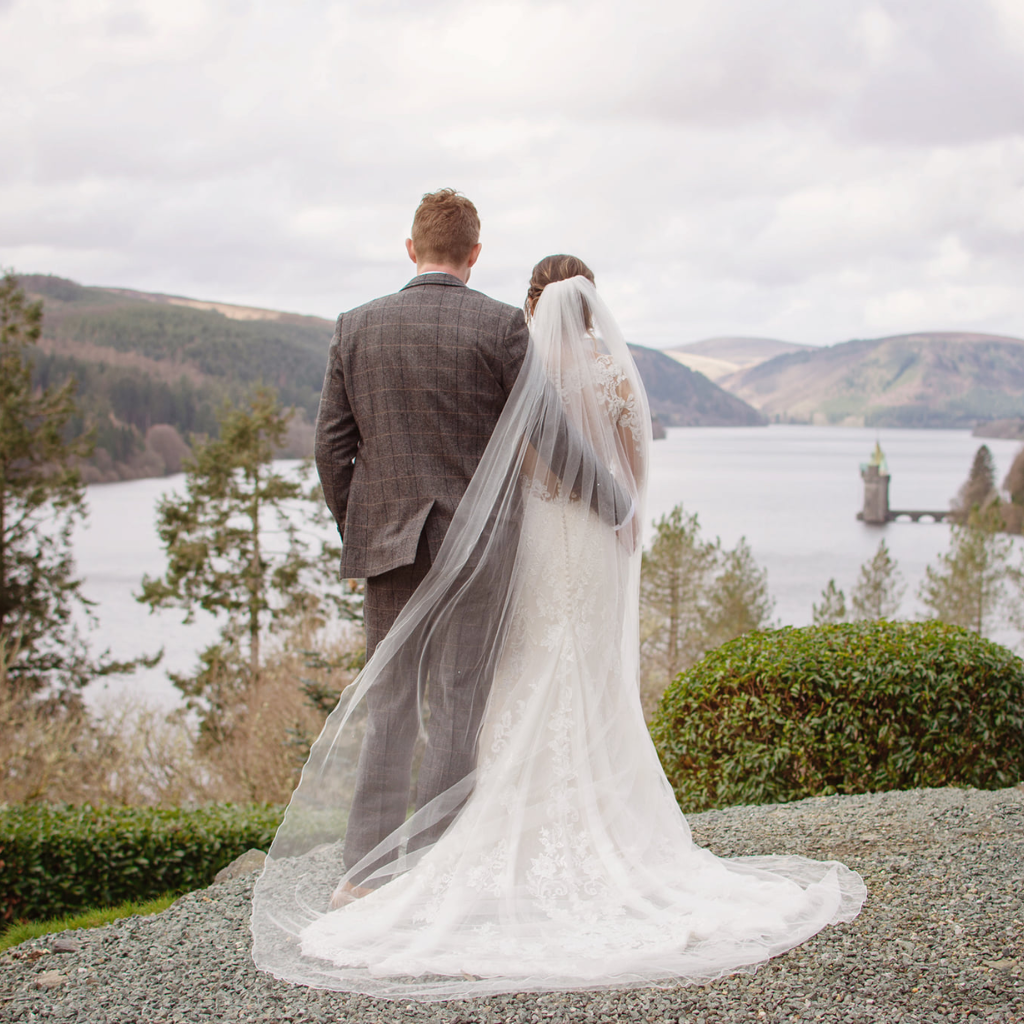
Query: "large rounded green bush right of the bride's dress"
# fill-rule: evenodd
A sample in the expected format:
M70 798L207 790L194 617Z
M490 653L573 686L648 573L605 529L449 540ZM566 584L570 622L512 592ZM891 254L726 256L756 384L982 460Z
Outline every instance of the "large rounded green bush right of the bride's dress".
M651 735L687 811L1024 777L1024 662L942 623L751 633L682 673Z

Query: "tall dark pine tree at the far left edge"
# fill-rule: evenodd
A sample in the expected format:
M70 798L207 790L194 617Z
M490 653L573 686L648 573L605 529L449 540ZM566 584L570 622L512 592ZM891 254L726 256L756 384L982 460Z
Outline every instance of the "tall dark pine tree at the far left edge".
M0 282L0 648L7 685L22 698L75 693L100 666L89 657L75 611L90 602L75 575L71 537L86 516L78 463L87 437L66 440L77 415L75 381L36 391L31 352L41 302L29 302L13 272ZM120 668L127 668L123 666Z

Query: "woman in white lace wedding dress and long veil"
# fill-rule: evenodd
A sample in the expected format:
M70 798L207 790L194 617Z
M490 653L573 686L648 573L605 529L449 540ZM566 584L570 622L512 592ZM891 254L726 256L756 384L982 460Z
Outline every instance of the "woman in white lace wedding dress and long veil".
M658 763L638 692L650 416L593 280L535 268L531 350L438 559L312 748L253 897L279 978L418 999L703 982L860 910L838 862L695 846ZM634 501L617 528L595 458ZM466 629L486 637L469 666ZM346 870L367 694L396 673L424 734L432 679L489 683L477 735L452 737L476 769Z

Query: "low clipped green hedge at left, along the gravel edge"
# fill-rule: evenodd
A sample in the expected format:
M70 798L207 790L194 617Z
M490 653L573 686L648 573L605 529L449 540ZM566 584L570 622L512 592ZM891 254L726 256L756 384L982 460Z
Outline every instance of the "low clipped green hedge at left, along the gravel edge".
M208 885L266 850L283 809L217 804L0 808L0 921L38 921Z

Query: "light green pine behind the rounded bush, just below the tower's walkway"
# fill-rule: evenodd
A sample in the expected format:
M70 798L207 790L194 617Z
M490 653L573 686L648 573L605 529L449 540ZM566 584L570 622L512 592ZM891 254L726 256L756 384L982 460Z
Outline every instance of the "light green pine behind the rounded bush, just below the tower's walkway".
M926 568L919 591L930 617L981 636L1002 621L1016 571L1010 561L1013 541L999 532L1001 524L998 508L989 508L951 527L949 550L937 566Z

